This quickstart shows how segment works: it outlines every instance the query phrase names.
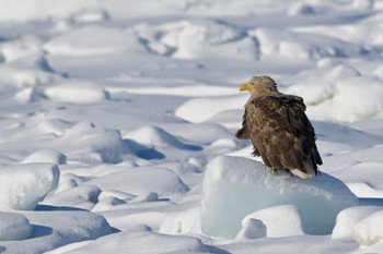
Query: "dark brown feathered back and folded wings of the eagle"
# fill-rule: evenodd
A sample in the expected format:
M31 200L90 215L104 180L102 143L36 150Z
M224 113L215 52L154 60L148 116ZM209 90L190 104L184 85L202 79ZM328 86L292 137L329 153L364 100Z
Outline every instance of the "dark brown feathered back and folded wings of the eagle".
M246 122L253 122L247 131L267 166L303 169L303 161L310 160L317 172L322 159L304 110L301 97L281 93L258 97L246 106Z

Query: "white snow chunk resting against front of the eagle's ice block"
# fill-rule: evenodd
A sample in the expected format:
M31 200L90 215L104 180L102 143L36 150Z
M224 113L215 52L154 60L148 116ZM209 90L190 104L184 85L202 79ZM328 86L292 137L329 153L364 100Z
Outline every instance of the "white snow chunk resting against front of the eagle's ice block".
M303 234L300 213L293 205L272 206L249 214L242 220L242 230L251 219L260 220L267 227L268 238Z

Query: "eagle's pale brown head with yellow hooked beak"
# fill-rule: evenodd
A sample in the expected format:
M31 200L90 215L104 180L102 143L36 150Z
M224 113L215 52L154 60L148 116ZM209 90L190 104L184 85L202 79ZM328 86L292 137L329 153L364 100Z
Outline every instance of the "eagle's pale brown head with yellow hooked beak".
M252 97L268 95L277 92L277 84L269 76L253 76L247 83L240 86L240 92L248 90Z

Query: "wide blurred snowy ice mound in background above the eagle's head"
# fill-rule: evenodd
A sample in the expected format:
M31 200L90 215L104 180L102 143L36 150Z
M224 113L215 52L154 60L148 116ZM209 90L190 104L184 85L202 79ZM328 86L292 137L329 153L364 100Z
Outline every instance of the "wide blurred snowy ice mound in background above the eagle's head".
M258 57L253 38L241 28L223 23L184 21L162 25L160 29L167 29L160 43L174 48L174 58L254 60Z

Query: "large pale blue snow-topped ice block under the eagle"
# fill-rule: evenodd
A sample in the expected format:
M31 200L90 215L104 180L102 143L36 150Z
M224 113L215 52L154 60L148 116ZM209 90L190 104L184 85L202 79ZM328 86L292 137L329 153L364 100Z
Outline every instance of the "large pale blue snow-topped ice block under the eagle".
M303 232L327 234L333 230L337 214L357 204L357 197L348 188L326 173L302 180L288 173L272 174L255 160L222 156L207 166L201 228L208 235L234 238L241 229L241 220L248 214L271 206L294 205Z

